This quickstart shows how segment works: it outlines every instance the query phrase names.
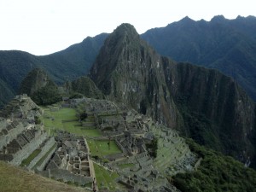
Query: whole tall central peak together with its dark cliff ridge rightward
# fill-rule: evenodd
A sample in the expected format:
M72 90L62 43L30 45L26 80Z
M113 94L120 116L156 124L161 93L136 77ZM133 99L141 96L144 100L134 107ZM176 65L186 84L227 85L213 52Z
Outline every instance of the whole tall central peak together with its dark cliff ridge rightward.
M108 36L90 78L108 99L198 143L243 162L255 158L255 103L245 91L216 70L157 54L130 24Z

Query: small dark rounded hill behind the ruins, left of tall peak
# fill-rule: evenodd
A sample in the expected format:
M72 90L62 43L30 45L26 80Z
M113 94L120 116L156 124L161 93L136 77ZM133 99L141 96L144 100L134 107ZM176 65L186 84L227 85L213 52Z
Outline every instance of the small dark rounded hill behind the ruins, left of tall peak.
M49 105L61 101L61 93L57 85L40 68L34 68L22 80L20 94L27 94L38 105Z

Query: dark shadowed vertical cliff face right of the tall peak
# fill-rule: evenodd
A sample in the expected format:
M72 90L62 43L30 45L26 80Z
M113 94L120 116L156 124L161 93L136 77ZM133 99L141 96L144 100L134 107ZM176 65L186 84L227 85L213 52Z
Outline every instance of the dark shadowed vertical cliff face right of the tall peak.
M188 63L165 72L187 135L240 160L254 153L255 104L233 79Z

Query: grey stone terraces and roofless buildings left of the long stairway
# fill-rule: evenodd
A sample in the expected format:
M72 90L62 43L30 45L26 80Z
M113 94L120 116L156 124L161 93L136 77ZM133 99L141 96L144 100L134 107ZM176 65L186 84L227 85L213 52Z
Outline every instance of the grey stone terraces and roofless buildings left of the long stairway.
M57 137L49 137L43 124L36 125L42 113L26 95L15 96L0 111L0 160L65 182L93 183L86 140L61 131ZM33 153L37 155L28 160Z

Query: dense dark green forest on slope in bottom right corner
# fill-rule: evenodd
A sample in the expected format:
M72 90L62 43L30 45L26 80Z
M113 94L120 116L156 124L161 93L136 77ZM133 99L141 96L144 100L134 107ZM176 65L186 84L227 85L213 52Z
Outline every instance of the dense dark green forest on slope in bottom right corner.
M178 173L174 184L182 191L255 191L256 172L229 156L188 140L189 148L202 158L196 171Z

